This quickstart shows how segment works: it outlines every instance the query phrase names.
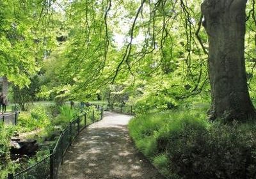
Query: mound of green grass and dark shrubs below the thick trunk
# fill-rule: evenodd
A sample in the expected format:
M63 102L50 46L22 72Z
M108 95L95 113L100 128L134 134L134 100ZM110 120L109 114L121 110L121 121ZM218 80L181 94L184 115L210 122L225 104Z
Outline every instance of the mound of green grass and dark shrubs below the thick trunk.
M224 125L200 112L138 116L136 146L168 178L255 178L256 124Z

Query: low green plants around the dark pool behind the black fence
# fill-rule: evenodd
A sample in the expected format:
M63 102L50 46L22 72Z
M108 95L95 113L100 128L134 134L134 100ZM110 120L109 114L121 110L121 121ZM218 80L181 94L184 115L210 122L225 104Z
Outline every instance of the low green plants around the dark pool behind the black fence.
M0 178L5 179L8 173L26 169L49 155L49 145L44 146L45 139L54 141L60 135L60 131L54 128L54 125L61 125L63 128L79 114L78 109L70 109L67 105L60 107L52 104L47 105L47 103L42 104L32 105L28 111L22 111L19 114L17 126L0 125ZM94 121L100 119L100 111L96 110L95 106L86 107L84 110L88 113L87 125L92 123L92 110L95 111ZM15 132L30 132L38 128L42 129L42 132L36 137L37 143L41 143L40 150L35 156L29 158L28 162L23 162L22 165L12 162L10 160L10 139L13 134Z

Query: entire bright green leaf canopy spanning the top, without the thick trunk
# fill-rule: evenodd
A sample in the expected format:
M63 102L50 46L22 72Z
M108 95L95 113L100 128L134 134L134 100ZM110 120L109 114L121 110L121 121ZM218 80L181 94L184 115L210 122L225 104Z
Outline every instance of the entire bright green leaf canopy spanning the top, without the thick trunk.
M40 97L86 100L119 86L112 92L163 109L195 95L209 99L201 3L1 1L0 73L21 87L39 74ZM254 98L255 1L246 4L244 20L246 77Z

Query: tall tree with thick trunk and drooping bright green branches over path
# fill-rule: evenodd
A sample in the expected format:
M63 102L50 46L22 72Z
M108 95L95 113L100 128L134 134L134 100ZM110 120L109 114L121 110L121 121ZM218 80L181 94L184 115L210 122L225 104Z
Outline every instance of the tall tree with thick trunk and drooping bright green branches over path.
M246 0L204 0L202 15L200 4L191 0L69 2L65 15L70 33L63 51L67 65L58 78L58 86L63 87L58 89L81 98L84 91L97 91L103 83L129 81L126 86L143 88L141 96L150 91L150 95L179 100L208 91L210 79L212 120L254 118L244 60ZM249 14L250 23L256 24L254 8ZM200 30L203 15L207 34ZM122 47L115 46L116 34L124 36ZM250 54L254 35L248 35Z

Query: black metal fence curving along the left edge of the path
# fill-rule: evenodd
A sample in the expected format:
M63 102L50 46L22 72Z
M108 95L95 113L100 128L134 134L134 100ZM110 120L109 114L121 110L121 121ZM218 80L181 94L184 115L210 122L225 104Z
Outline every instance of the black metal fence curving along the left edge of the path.
M92 109L91 111L82 113L76 119L72 120L61 132L49 156L24 171L20 171L14 175L9 174L8 179L56 179L63 157L70 144L72 144L72 141L74 141L83 128L102 120L103 112L104 109L99 107L98 109Z

